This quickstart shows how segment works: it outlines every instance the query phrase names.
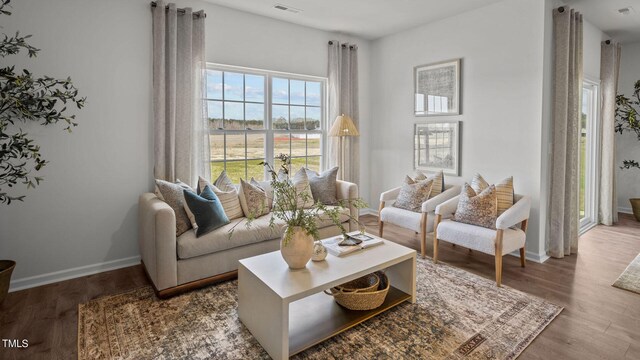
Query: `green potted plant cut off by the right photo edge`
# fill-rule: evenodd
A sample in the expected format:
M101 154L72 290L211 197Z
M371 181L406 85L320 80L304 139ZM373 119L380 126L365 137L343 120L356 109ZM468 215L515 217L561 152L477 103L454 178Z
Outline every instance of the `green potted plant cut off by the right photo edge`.
M615 131L623 134L625 132L635 133L640 141L640 80L633 86L631 97L620 94L616 96L616 124ZM621 169L638 169L640 163L637 160L623 160ZM640 221L640 198L629 199L633 215Z

